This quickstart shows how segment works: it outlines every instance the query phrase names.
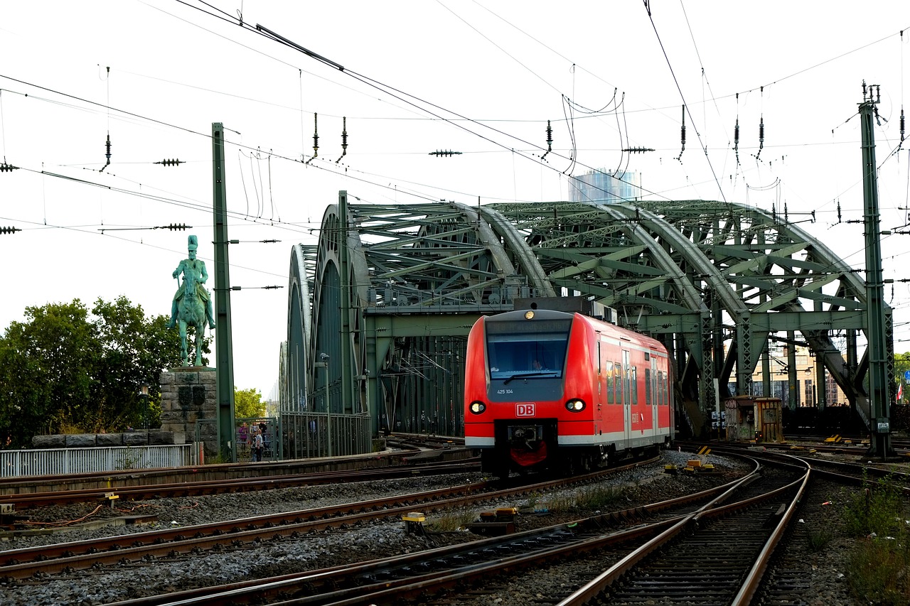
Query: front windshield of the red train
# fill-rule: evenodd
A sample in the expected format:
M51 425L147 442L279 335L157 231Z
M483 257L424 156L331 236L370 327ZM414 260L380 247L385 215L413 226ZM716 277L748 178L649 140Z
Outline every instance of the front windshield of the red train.
M488 321L491 379L561 377L570 319Z

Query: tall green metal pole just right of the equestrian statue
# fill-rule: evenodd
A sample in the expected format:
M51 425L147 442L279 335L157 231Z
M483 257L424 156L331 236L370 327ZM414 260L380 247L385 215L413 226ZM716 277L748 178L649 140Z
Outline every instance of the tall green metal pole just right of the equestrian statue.
M212 123L212 183L215 221L215 369L218 448L222 460L237 462L234 446L234 346L230 327L230 275L227 260L225 141L220 122Z

